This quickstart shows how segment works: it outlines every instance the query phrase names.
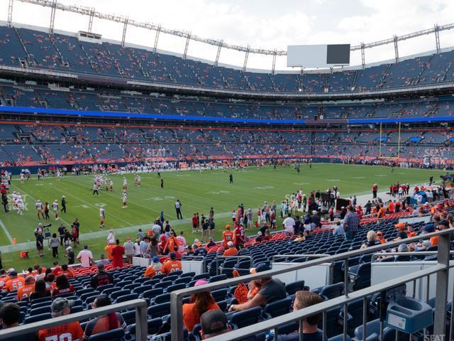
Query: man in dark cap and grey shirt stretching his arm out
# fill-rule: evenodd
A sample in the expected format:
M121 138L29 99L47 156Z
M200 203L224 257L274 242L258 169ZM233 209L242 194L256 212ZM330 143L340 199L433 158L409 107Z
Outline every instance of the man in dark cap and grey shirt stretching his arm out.
M270 270L270 266L265 263L258 264L255 271L258 273ZM260 286L260 291L254 298L243 304L233 304L230 306L229 311L241 311L250 308L265 306L267 303L279 301L282 298L287 297L285 291L285 285L279 279L273 279L272 277L259 278L255 280Z

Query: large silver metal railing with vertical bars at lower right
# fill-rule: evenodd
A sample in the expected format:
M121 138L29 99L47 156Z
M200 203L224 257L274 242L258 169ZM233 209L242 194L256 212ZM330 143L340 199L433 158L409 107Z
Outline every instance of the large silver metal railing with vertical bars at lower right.
M416 279L424 278L430 276L431 274L436 274L436 301L435 301L435 318L434 318L434 335L445 335L446 331L446 305L448 301L448 272L450 269L449 259L450 259L450 236L453 234L454 229L445 229L439 232L433 232L428 234L422 234L417 237L411 237L407 239L402 239L395 242L388 242L385 244L380 244L375 247L368 247L366 249L359 249L354 251L348 251L343 254L336 254L333 256L322 257L321 259L314 259L311 261L306 261L301 264L295 264L294 266L289 266L286 269L279 270L270 270L264 271L259 274L251 274L248 276L241 276L239 278L231 278L225 281L218 281L215 283L209 283L204 286L197 286L193 288L185 288L179 291L173 291L170 293L170 311L172 315L171 327L172 327L172 341L182 341L184 340L184 330L183 330L183 318L182 318L182 303L183 298L190 296L194 293L201 293L204 291L213 291L218 288L225 288L227 286L233 286L240 282L248 282L259 278L268 278L270 276L275 276L279 274L285 274L291 271L297 271L299 269L306 269L310 266L319 265L328 262L334 261L344 261L345 271L344 271L344 295L338 298L333 298L332 300L313 305L308 308L304 308L293 313L279 316L277 318L272 318L270 320L265 320L264 322L251 325L248 328L240 328L238 330L233 330L224 335L219 335L213 337L214 341L234 341L241 340L245 337L252 335L257 335L260 332L275 330L275 340L277 340L277 327L279 325L285 325L291 322L299 321L300 327L302 327L302 320L310 315L316 313L323 314L323 326L326 325L326 310L334 308L338 305L343 305L343 339L347 338L347 323L348 323L348 303L355 301L359 298L363 299L363 310L367 308L367 297L371 296L374 293L382 292L389 288L394 288L399 286L402 283L407 283L411 281L416 281ZM421 239L429 239L431 237L439 237L438 241L438 259L437 263L434 266L431 266L429 269L424 269L421 271L416 271L414 274L409 274L399 278L394 278L391 281L386 281L384 283L377 284L375 286L370 286L368 288L361 289L359 291L348 292L348 259L354 256L360 256L362 254L371 254L377 253L382 249L389 249L392 247L398 247L399 244L407 244L411 242L417 242ZM453 265L454 266L454 265ZM363 311L363 336L366 335L366 323L367 319L364 318L365 311ZM381 327L383 325L381 324ZM453 322L451 320L450 330L453 329ZM299 328L302 330L302 328ZM381 333L383 335L383 333ZM451 334L452 335L452 334ZM302 340L302 334L300 335L300 340ZM326 340L326 335L324 335L324 340ZM365 337L363 337L365 340Z

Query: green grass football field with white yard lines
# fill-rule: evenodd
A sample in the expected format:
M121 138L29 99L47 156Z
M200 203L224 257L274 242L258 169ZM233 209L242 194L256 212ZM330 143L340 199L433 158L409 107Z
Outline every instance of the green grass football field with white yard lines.
M122 175L111 175L114 180L114 191L100 191L100 195L92 195L92 176L63 177L60 182L56 178L44 180L28 180L21 184L17 177L13 177L11 190L20 191L24 195L26 210L23 215L16 212L0 213L1 229L0 244L11 245L11 238L16 238L18 245L35 241L33 229L38 220L35 211L35 201L51 203L57 199L60 202L62 195L67 197L67 213L62 213L61 222L69 226L76 217L80 222L81 244L89 244L94 256L104 251L107 230L120 229L116 237L123 242L126 237L135 238L138 225L151 227L153 220L163 210L165 218L170 220L171 226L176 231L183 230L187 242L193 242L199 235L192 234L190 218L194 212L208 214L209 208L214 207L216 222L216 239L220 239L223 226L231 221L229 212L244 203L245 207L253 208L254 215L258 205L266 200L276 200L278 206L285 195L292 194L294 190L303 188L304 193L310 190L326 190L327 187L338 185L341 197L362 195L370 193L372 183L379 185L379 191L386 190L391 183L423 183L428 177L438 180L441 172L423 171L414 169L396 168L392 173L390 168L377 166L345 166L335 164L314 164L302 166L301 173L294 171L293 167L277 168L249 168L247 171L232 171L233 184L228 183L228 174L223 171L206 171L194 173L192 171L163 172L165 188L160 188L157 174L142 173L142 185L133 185L134 175L125 175L128 178L128 207L121 209ZM181 200L182 212L185 220L176 220L175 200ZM99 232L99 205L106 205L106 222L102 237L94 237L94 232ZM52 210L51 210L52 212ZM256 216L255 216L256 217ZM41 222L44 222L41 220ZM55 221L51 215L51 232L56 232L60 222ZM280 223L280 221L278 221ZM147 229L145 227L145 229ZM7 232L6 232L7 231ZM9 233L9 235L8 235ZM249 232L253 233L253 232ZM74 250L77 254L80 248ZM19 251L3 252L2 259L5 268L14 267L25 269L27 266L39 262L43 265L52 264L52 255L45 248L45 256L38 259L35 247L28 248L31 258L19 258ZM60 261L64 250L60 248Z

